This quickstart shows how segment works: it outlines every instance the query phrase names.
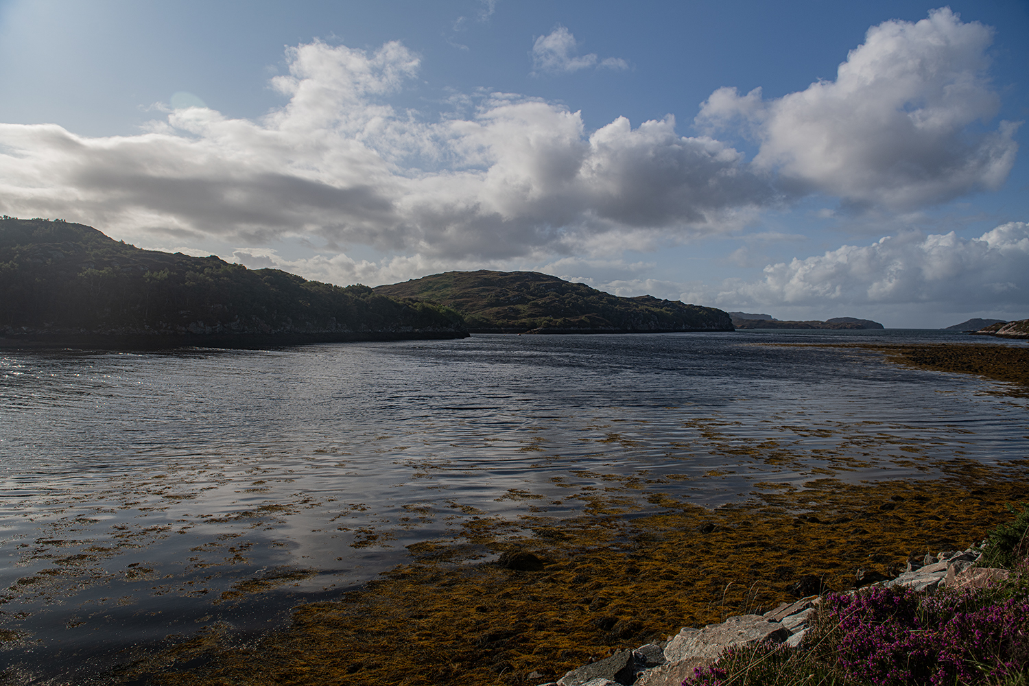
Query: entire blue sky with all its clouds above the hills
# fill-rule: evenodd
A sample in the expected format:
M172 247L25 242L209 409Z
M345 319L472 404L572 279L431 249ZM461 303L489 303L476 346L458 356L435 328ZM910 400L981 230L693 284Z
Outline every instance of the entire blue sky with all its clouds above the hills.
M1024 319L1027 81L1025 0L0 0L0 213L340 285Z

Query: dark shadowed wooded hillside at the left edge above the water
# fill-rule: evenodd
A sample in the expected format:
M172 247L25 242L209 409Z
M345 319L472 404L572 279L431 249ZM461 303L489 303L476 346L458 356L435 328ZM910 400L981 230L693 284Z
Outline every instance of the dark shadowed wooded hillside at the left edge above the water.
M290 342L466 335L456 313L367 286L140 250L81 224L12 218L0 220L0 333Z

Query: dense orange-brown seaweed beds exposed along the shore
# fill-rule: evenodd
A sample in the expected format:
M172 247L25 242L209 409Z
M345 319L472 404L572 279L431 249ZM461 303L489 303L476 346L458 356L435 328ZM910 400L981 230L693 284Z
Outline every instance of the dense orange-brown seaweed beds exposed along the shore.
M1003 393L1025 395L1029 386L1029 350L1022 348L859 347L894 362L1016 385ZM409 545L409 562L339 600L297 606L284 628L246 637L210 625L161 651L141 649L101 680L542 683L680 626L789 600L804 575L844 589L857 568L889 574L909 554L965 547L1007 518L1007 504L1029 499L1029 456L1000 466L958 456L931 467L942 476L757 483L761 491L745 502L715 509L652 484L641 493L632 479L576 493L583 508L564 517L546 515L541 496L516 494L529 505L522 516L466 511L457 535ZM542 569L495 562L516 551L542 558Z

